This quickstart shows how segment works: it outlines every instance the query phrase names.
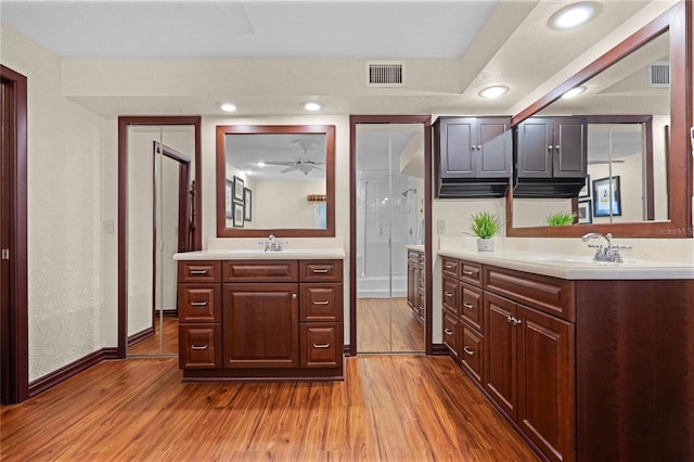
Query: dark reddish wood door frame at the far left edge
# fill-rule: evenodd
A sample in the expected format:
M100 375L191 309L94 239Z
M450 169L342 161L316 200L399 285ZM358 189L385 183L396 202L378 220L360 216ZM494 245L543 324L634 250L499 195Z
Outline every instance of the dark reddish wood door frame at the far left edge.
M8 290L2 291L0 311L0 402L29 398L29 324L27 291L27 77L0 64L2 86L12 92L12 104L3 114L10 126L2 150L8 167L8 249L2 260ZM7 143L7 144L5 144ZM4 194L3 194L4 195ZM4 205L3 205L4 206ZM4 244L4 243L3 243ZM7 261L7 264L5 264ZM3 288L5 288L3 286Z

